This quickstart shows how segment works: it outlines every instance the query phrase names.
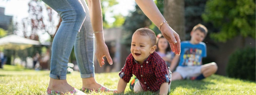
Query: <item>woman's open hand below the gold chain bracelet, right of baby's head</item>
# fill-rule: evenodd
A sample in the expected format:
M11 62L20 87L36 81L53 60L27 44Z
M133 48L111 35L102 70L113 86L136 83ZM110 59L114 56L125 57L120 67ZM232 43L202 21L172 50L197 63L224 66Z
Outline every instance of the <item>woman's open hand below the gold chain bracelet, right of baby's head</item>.
M180 37L179 35L167 24L164 23L161 26L161 30L163 37L167 39L169 42L172 51L176 55L180 55Z

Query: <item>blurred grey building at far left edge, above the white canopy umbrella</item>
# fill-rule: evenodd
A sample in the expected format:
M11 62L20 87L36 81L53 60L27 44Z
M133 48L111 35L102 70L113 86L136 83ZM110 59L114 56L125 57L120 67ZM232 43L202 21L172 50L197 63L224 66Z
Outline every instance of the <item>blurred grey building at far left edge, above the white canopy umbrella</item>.
M0 7L0 28L8 30L8 26L12 23L12 16L4 15L5 8Z

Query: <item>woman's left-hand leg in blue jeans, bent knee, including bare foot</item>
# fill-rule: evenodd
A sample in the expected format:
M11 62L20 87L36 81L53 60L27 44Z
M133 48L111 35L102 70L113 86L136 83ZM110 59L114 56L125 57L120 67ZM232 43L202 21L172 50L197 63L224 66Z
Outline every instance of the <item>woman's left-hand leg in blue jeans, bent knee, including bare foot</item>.
M86 17L80 0L42 0L62 18L52 43L50 82L48 88L59 92L71 90L67 83L67 63L76 36Z

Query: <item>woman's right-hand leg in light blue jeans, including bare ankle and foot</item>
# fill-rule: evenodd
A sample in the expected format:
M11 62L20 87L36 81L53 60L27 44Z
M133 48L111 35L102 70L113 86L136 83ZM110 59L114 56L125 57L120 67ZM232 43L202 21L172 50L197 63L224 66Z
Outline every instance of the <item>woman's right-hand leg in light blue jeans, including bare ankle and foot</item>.
M94 34L91 25L89 8L84 0L81 1L87 13L80 33L76 37L75 55L83 81L83 88L98 89L98 84L94 78Z

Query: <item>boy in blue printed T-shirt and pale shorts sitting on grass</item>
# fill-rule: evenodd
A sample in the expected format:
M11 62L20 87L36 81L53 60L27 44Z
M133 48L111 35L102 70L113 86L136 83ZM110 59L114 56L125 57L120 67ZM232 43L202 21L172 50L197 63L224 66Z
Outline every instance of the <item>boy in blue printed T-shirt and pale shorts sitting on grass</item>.
M218 66L215 62L202 65L202 58L207 56L206 44L203 39L207 35L207 28L202 24L197 24L191 31L191 40L181 42L181 53L176 55L170 66L170 71L179 65L172 73L172 80L202 80L214 74Z

